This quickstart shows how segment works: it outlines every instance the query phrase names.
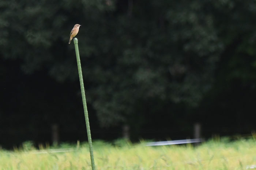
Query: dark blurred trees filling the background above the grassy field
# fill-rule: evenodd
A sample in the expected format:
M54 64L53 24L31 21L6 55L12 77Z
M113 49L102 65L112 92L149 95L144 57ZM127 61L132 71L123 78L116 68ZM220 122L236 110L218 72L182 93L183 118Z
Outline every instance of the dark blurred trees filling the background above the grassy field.
M197 121L206 136L255 129L255 1L2 0L0 11L0 143L49 141L53 123L62 141L85 138L74 24L93 137L123 124L133 139L184 138Z

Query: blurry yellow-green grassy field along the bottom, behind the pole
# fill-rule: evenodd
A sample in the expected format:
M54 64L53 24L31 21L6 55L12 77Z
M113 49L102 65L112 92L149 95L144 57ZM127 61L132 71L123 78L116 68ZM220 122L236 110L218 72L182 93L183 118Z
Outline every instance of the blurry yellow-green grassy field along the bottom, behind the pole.
M198 147L192 145L145 146L144 142L116 145L94 141L96 169L169 170L169 169L252 169L256 168L256 141L208 141ZM41 146L42 147L42 146ZM71 146L62 145L62 148ZM33 146L14 151L0 150L0 169L62 170L91 169L89 147L86 143L67 152L35 150Z

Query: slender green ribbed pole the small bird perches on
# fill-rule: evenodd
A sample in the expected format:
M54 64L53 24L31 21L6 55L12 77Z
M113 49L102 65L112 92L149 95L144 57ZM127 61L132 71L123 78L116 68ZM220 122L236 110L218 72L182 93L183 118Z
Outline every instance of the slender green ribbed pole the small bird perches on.
M88 137L89 149L90 149L91 169L95 170L94 157L93 157L93 143L91 142L91 130L90 130L90 123L89 123L85 91L84 91L84 85L83 85L83 74L82 74L82 67L80 62L77 38L74 38L74 44L75 44L76 61L77 61L78 74L79 74L80 87L81 87L82 100L83 100L83 110L84 110L84 117L85 117L85 123L86 123L87 137Z

